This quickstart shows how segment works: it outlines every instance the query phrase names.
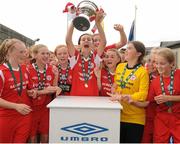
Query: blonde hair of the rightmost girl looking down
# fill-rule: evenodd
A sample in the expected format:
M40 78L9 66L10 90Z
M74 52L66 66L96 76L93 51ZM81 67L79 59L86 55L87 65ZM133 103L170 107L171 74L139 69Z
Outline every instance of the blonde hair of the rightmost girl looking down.
M170 64L175 64L175 55L170 48L159 49L157 55L165 58Z

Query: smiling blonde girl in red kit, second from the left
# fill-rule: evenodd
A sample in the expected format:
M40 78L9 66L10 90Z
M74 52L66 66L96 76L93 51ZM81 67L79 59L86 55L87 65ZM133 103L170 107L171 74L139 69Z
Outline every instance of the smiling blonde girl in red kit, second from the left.
M49 50L43 44L34 45L32 55L35 63L28 67L31 77L31 85L37 90L37 97L32 99L33 122L30 142L37 142L37 134L40 134L40 142L48 142L49 134L49 109L46 107L52 100L52 94L59 95L61 89L57 86L58 71L49 65Z

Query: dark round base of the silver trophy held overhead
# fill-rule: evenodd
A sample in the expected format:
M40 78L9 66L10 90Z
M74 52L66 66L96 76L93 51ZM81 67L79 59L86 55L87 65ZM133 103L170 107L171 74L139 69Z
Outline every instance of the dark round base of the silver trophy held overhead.
M79 31L87 31L90 27L90 22L82 16L78 16L73 20L74 27Z

